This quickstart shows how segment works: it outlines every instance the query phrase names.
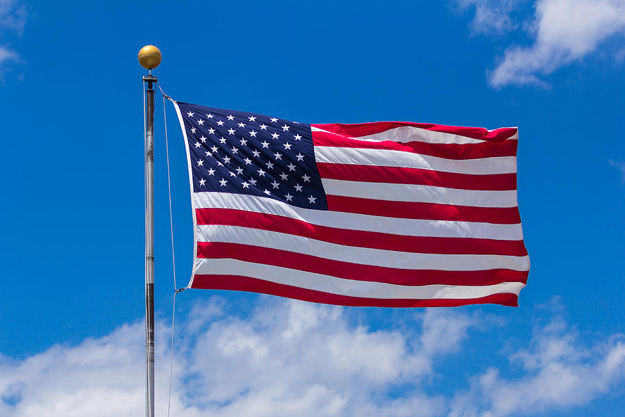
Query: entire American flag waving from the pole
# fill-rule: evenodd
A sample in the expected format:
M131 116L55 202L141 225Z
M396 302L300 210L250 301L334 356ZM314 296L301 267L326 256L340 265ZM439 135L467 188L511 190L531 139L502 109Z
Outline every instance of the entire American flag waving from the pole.
M516 306L517 129L303 124L175 102L188 288L345 306Z

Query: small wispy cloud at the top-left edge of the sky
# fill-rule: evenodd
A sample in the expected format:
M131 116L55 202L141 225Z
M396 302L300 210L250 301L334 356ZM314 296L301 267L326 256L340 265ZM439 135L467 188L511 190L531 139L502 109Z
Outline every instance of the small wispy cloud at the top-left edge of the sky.
M19 54L6 44L11 37L22 36L26 8L15 0L0 0L0 80L10 67L21 62Z

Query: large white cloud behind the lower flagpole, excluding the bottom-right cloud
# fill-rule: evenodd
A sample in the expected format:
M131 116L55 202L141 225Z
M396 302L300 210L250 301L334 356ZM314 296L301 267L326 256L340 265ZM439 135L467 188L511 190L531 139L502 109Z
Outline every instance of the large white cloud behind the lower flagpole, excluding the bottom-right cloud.
M422 322L423 332L372 331L350 325L338 307L263 304L245 320L221 309L219 300L195 306L178 327L174 416L438 416L442 398L419 392L391 398L387 390L422 382L475 324L454 311L428 311L411 323ZM169 329L158 327L156 398L163 415ZM23 361L2 357L0 415L141 415L143 354L138 322Z

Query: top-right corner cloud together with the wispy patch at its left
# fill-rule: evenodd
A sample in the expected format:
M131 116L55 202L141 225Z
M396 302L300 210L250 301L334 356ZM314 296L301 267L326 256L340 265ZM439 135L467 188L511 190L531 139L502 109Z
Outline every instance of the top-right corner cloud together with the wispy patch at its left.
M475 7L473 33L507 33L523 28L533 38L529 46L508 47L489 83L547 86L545 76L581 60L610 38L625 35L625 0L537 0L533 16L516 22L512 12L522 0L457 0L461 8ZM614 53L619 60L621 50Z

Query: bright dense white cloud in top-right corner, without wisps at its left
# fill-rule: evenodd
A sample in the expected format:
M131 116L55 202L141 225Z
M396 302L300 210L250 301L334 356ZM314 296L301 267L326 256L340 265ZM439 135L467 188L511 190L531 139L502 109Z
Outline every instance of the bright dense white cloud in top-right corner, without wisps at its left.
M546 85L541 76L580 60L601 42L625 35L625 0L538 0L530 47L511 47L490 72L490 84Z

